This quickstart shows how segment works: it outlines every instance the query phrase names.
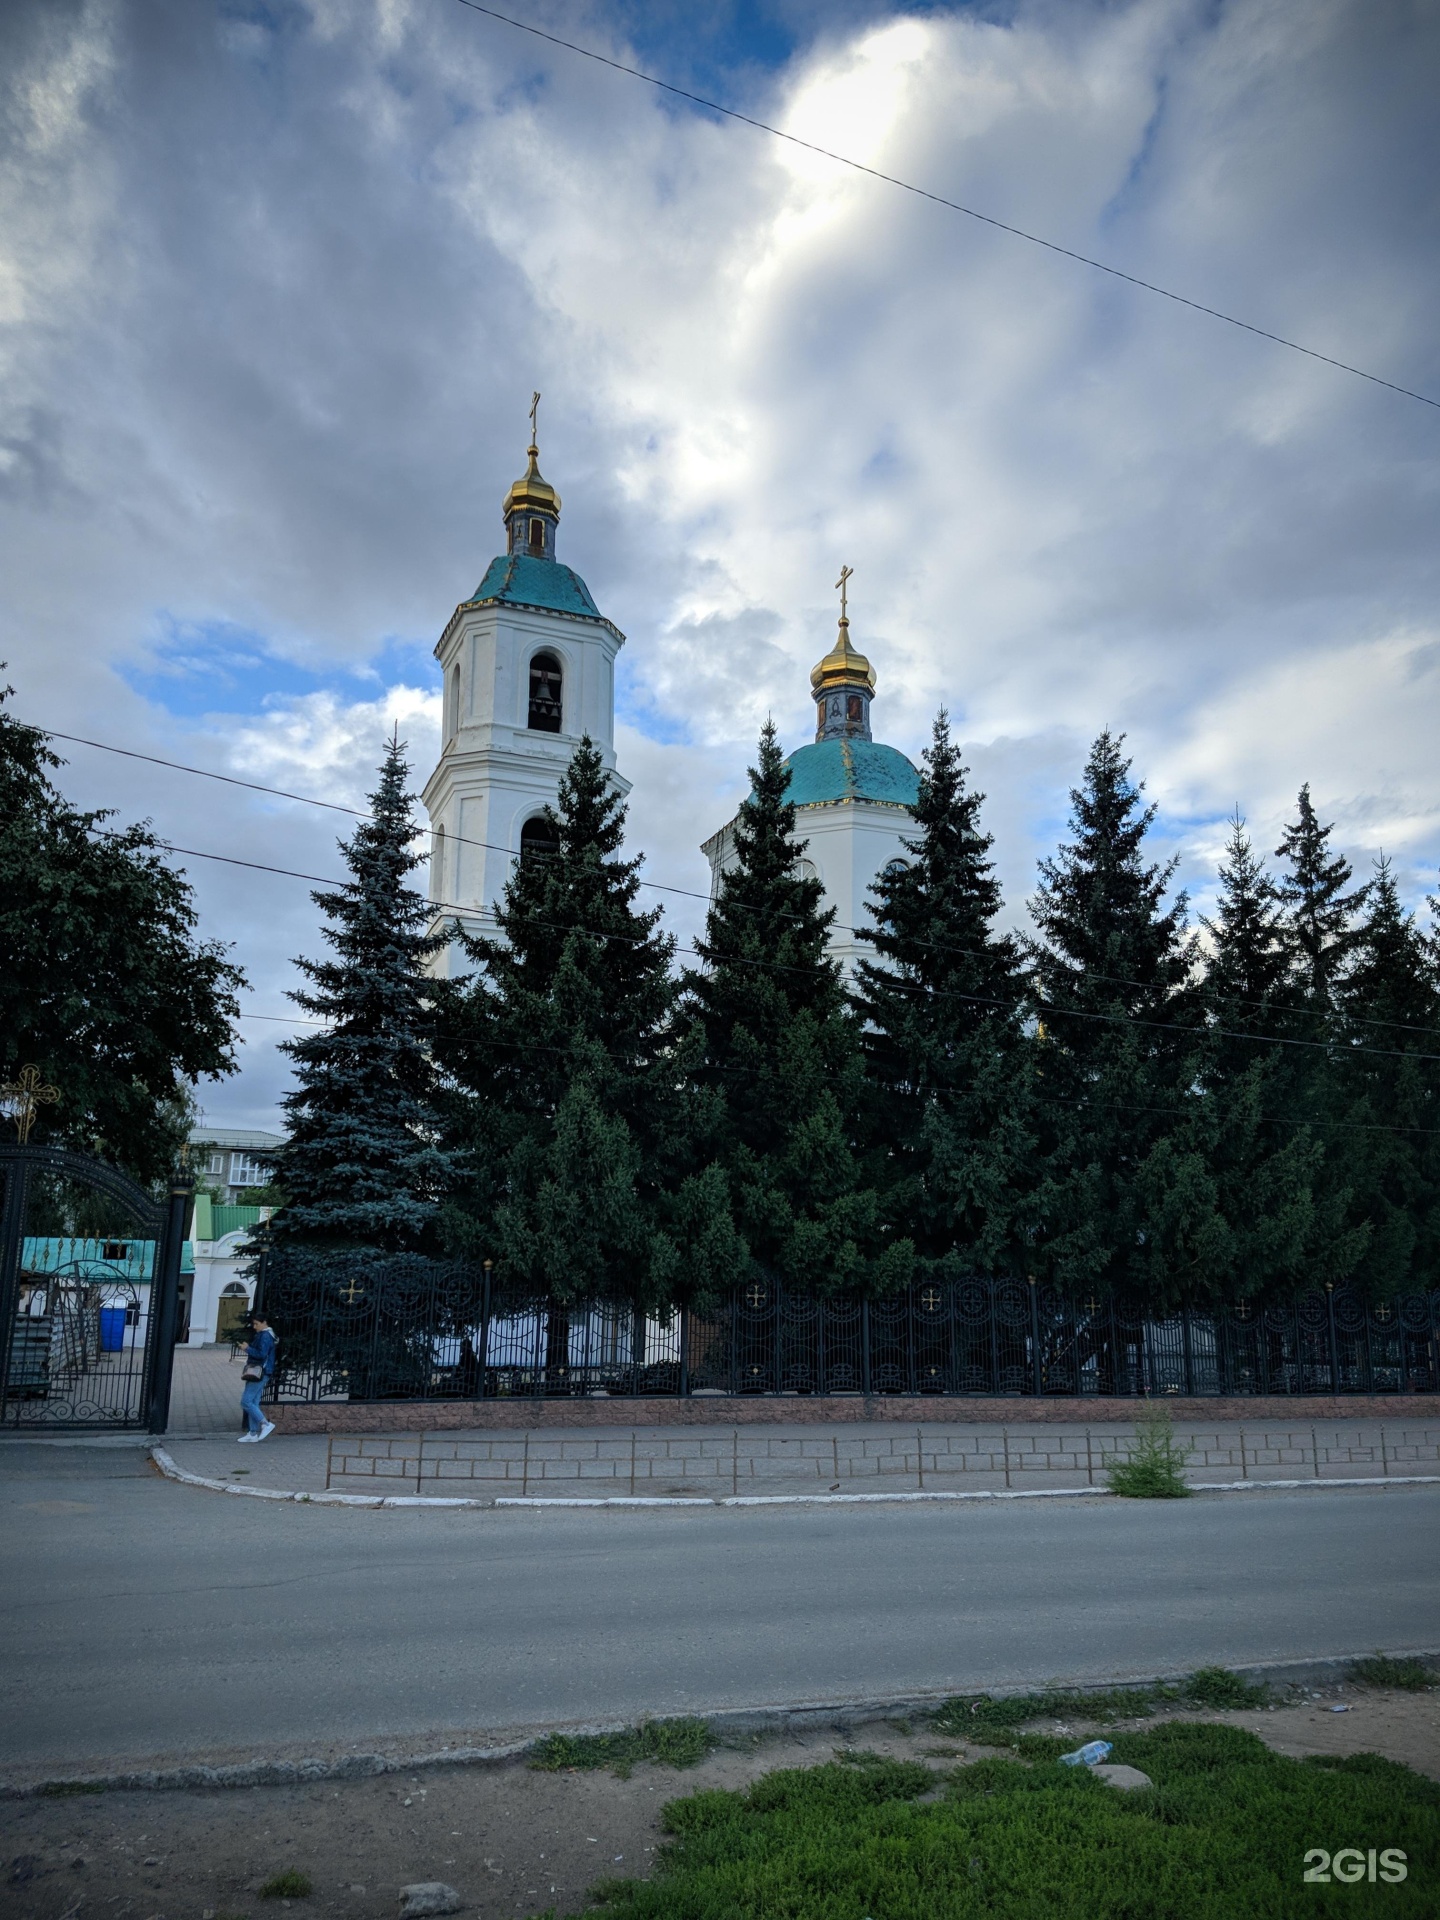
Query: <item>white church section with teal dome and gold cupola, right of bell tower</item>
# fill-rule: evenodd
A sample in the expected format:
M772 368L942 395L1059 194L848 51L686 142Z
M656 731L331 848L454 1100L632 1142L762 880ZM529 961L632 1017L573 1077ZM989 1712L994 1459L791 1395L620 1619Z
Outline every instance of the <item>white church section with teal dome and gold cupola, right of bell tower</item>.
M804 841L801 872L820 879L826 906L835 908L829 950L845 968L876 958L858 941L856 927L870 924L866 889L885 866L906 860L904 835L916 822L906 812L920 795L920 774L897 747L870 732L876 670L851 645L847 566L839 578L841 616L835 645L810 674L816 703L816 735L789 755L789 799L795 803L795 837ZM735 822L705 841L710 889L735 858Z

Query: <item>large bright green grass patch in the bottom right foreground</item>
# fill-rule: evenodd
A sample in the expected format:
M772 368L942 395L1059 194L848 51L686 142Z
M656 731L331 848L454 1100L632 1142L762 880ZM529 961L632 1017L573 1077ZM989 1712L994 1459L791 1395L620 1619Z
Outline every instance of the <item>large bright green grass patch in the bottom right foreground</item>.
M985 1759L774 1772L664 1809L649 1882L593 1889L607 1920L1300 1920L1434 1912L1440 1788L1373 1755L1311 1766L1242 1728L1116 1738L1146 1793L1085 1768ZM937 1784L945 1797L922 1803ZM1306 1849L1398 1847L1400 1885L1306 1885Z

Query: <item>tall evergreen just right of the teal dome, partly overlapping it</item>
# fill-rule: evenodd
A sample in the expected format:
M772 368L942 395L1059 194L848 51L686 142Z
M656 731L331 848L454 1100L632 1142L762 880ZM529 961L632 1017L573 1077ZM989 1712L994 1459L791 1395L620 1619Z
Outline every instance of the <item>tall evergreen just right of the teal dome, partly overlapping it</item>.
M860 962L877 1181L885 1212L929 1261L956 1271L1023 1265L1031 1185L1027 996L1018 941L981 831L983 793L945 710L924 755L918 833L870 893Z

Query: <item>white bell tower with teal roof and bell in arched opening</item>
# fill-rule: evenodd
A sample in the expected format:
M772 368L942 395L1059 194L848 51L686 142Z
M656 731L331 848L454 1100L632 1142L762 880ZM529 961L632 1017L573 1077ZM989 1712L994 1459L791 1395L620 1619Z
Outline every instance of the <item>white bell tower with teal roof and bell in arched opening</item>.
M522 851L549 843L543 808L588 733L614 766L614 657L624 634L589 588L555 559L561 495L540 474L536 394L530 465L505 495L505 553L486 568L440 636L440 764L424 783L430 816L432 931L459 920L495 929L493 908ZM438 972L468 972L455 948Z

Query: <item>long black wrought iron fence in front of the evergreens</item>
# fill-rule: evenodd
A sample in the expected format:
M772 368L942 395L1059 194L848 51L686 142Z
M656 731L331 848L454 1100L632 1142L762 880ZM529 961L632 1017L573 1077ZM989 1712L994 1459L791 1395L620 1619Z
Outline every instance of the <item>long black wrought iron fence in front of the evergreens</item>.
M1434 1394L1440 1292L1160 1319L1048 1286L956 1281L881 1300L751 1283L708 1308L563 1304L413 1256L269 1258L275 1398L739 1394Z

